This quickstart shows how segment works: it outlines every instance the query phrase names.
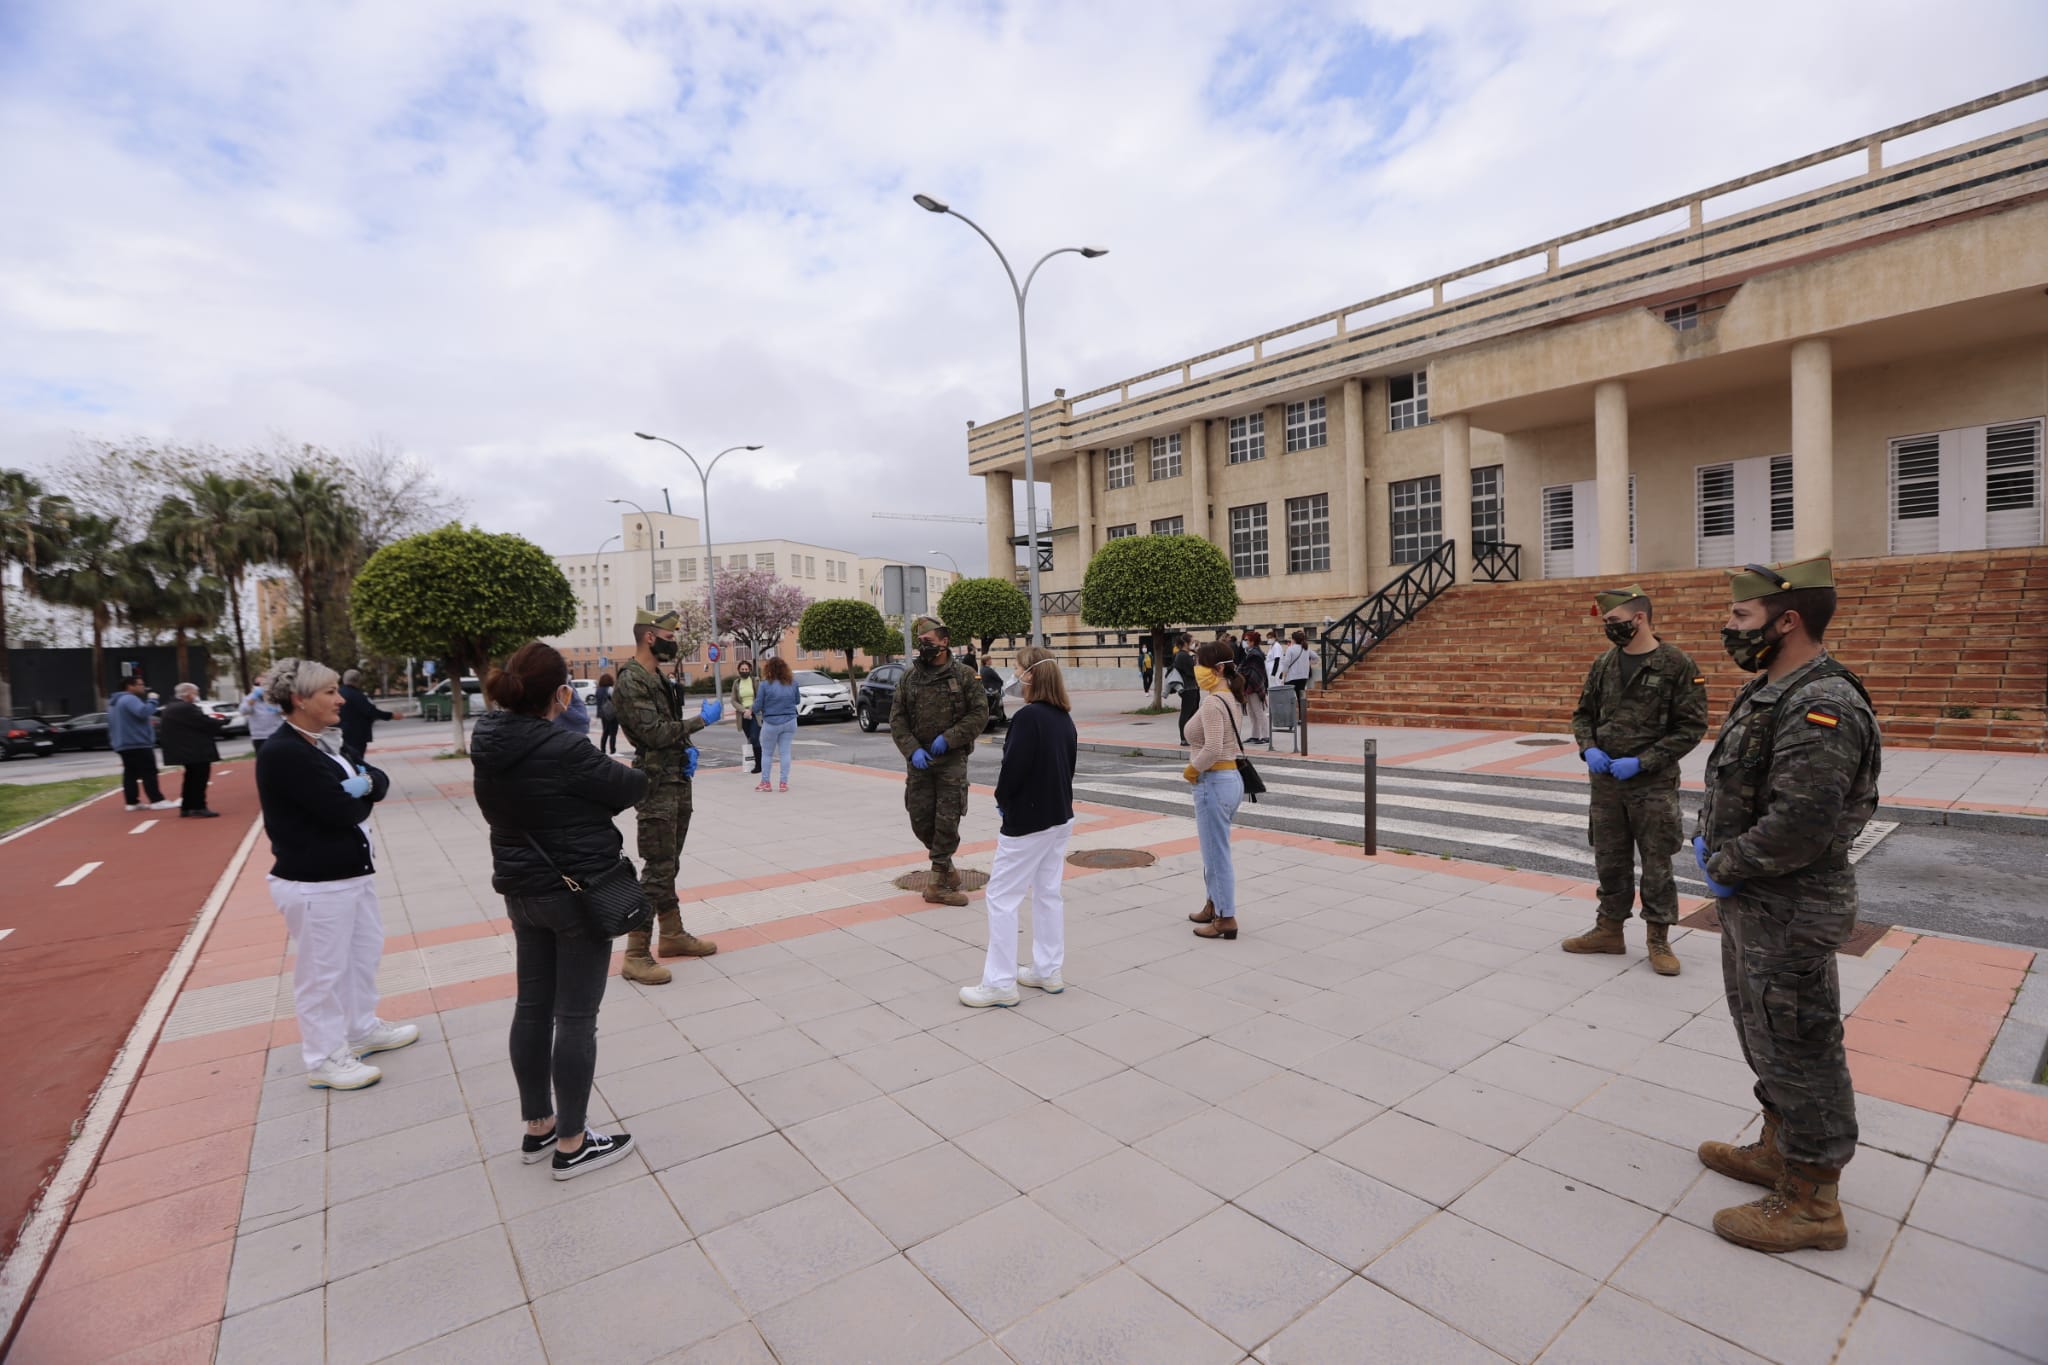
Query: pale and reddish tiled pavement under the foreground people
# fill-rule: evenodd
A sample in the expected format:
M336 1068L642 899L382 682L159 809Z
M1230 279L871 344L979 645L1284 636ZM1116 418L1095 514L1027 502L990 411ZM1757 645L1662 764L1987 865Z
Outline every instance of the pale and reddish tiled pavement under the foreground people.
M1692 1146L1753 1128L1712 935L1686 974L1571 958L1587 886L1239 831L1245 937L1188 933L1192 823L1083 808L1069 988L971 1013L983 913L891 774L707 772L686 919L612 980L594 1121L516 1156L510 939L467 769L379 747L385 1015L307 1091L289 945L242 872L10 1363L2048 1359L2048 1099L1976 1081L2023 950L1843 958L1864 1150L1843 1252L1769 1259ZM987 866L993 812L967 823Z

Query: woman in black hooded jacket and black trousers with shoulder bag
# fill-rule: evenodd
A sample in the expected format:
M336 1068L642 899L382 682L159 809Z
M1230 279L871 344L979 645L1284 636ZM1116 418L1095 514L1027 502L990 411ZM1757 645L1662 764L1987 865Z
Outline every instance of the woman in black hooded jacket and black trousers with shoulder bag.
M518 950L512 1076L526 1132L520 1156L553 1162L557 1181L608 1166L631 1134L588 1130L598 1066L598 1005L612 941L584 917L569 878L594 880L625 847L616 817L647 794L647 774L555 724L569 708L569 665L539 641L492 669L469 741L477 808L492 831L492 888L506 898Z

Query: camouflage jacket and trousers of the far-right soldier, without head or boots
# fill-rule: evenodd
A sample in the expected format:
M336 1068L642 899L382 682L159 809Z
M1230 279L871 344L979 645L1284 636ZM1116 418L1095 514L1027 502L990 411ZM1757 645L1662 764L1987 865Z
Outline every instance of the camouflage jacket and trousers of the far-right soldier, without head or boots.
M1737 886L1720 900L1720 974L1757 1101L1786 1160L1841 1169L1855 1154L1855 1095L1835 950L1855 927L1849 843L1878 808L1882 735L1829 663L1823 651L1735 698L1700 835L1708 876Z

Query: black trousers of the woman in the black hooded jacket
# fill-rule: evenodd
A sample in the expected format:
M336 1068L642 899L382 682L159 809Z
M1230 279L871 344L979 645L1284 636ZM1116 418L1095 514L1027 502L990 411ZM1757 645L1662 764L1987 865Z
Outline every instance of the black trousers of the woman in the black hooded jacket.
M555 1132L580 1134L590 1119L598 1005L612 970L612 941L584 927L567 894L506 896L506 913L518 950L510 1046L520 1117L553 1113Z

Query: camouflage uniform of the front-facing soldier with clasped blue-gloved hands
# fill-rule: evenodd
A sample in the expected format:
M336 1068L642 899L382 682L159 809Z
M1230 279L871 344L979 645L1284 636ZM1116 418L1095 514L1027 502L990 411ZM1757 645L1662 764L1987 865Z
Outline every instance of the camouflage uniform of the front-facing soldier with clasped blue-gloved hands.
M1677 645L1657 645L1622 681L1622 649L1593 661L1571 716L1579 753L1632 757L1642 772L1622 782L1589 774L1587 841L1599 870L1599 917L1628 919L1642 855L1642 921L1677 923L1671 857L1686 841L1677 808L1677 761L1706 735L1706 677Z

